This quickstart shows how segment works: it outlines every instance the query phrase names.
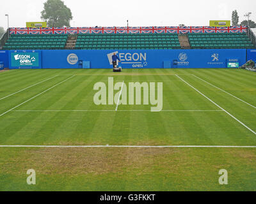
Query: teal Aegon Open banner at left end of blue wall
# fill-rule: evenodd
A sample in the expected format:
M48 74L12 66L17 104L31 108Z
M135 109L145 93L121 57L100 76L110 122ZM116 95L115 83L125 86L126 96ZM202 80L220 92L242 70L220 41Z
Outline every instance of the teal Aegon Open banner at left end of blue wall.
M15 50L9 57L10 68L41 68L41 51Z

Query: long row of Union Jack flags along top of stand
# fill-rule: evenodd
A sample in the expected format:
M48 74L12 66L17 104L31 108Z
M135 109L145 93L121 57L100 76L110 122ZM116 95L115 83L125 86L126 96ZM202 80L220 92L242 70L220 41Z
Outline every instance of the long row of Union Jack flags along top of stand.
M246 26L209 27L13 27L10 34L246 33Z

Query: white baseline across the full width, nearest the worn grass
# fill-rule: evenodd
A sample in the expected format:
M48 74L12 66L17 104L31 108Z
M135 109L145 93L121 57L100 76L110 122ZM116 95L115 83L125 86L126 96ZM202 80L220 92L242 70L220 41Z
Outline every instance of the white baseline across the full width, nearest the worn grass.
M146 146L146 145L0 145L0 147L44 147L44 148L256 148L256 146L225 146L225 145L166 145L166 146Z

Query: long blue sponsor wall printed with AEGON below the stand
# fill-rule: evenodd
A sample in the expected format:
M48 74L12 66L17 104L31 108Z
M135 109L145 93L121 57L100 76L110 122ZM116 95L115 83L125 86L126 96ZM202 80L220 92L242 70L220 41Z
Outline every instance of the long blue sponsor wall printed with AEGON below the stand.
M246 50L22 50L9 52L10 68L112 68L116 53L122 68L227 68L246 62ZM20 56L17 54L28 54ZM15 58L16 56L16 58ZM22 58L25 57L25 58ZM26 61L26 57L30 57ZM19 59L18 59L19 58ZM22 66L20 66L22 62Z

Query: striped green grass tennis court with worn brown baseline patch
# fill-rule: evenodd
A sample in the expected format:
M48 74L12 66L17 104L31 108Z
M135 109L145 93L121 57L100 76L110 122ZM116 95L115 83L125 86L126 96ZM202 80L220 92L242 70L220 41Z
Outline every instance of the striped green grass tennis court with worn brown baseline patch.
M108 77L163 82L163 110L95 105L93 85ZM255 191L255 79L241 69L4 71L0 190Z

